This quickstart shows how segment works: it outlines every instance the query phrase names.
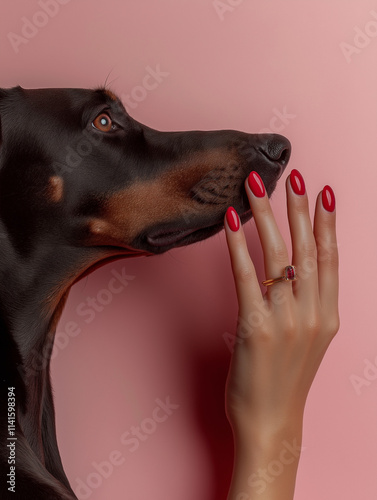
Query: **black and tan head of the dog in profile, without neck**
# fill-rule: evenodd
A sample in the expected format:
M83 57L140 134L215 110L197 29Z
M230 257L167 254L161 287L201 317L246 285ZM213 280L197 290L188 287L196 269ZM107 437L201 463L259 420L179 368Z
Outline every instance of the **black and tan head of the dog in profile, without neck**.
M279 135L153 130L105 89L1 90L0 119L0 231L23 254L38 240L119 256L202 240L230 205L249 219L245 178L271 195L290 156Z

